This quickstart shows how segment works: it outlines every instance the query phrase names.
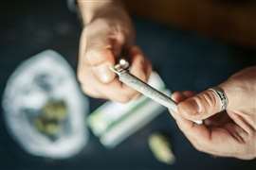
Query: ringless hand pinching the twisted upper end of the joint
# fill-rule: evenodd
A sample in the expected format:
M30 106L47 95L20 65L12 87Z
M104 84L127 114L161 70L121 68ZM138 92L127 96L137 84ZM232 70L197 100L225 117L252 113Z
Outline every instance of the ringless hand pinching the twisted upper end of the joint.
M82 30L78 78L84 93L97 98L127 102L138 93L122 84L109 69L127 48L130 72L143 81L151 74L151 64L140 49L133 45L134 31L129 17L116 8L115 14L105 14L92 20Z

